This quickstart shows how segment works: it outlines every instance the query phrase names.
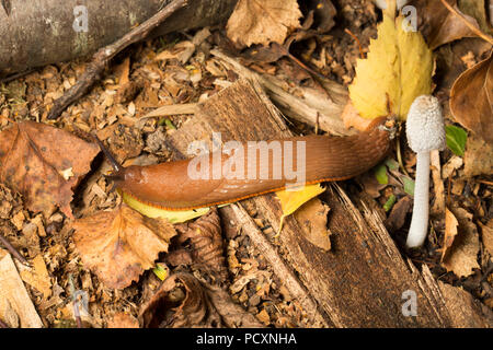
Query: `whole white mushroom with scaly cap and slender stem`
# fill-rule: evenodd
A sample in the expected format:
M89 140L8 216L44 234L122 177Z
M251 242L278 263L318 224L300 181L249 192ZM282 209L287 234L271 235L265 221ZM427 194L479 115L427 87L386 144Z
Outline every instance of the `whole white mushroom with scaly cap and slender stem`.
M421 95L414 100L405 132L409 145L416 152L413 215L406 241L406 246L413 248L423 244L428 229L429 152L445 148L444 117L436 97Z

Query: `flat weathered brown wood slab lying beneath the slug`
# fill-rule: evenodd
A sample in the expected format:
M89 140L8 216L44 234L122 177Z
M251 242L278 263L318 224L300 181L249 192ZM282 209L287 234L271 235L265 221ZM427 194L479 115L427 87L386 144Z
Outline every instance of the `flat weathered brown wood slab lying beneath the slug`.
M255 86L255 88L254 88ZM260 85L239 81L199 104L196 115L171 133L169 147L186 156L190 142L210 140L221 132L222 141L268 140L290 136L284 119ZM437 283L426 266L420 271L403 258L388 234L381 218L371 210L375 201L355 197L363 212L337 185L330 187L324 200L331 211L329 230L333 248L323 252L303 238L307 230L293 215L285 220L277 255L265 256L280 280L297 277L298 298L312 325L329 327L491 327L491 311L473 302L472 296ZM242 201L256 208L274 230L282 215L275 195ZM236 224L244 222L238 210L220 209ZM246 234L253 234L246 230ZM253 230L254 231L254 230ZM256 237L259 238L259 237ZM255 242L259 240L252 240ZM259 243L257 243L259 244ZM262 250L262 249L261 249ZM291 289L293 290L293 289ZM446 292L444 292L446 291ZM414 300L415 298L415 300ZM414 303L415 302L415 303ZM316 305L313 305L316 303ZM457 307L462 305L463 307ZM415 307L414 307L415 306ZM415 315L414 315L415 312Z

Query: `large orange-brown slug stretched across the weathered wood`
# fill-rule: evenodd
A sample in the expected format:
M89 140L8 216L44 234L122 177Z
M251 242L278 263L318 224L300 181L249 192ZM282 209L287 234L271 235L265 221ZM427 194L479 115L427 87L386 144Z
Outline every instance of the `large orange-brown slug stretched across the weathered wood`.
M355 136L307 136L229 144L190 160L121 167L110 177L130 197L167 210L241 200L303 184L343 180L378 164L390 150L385 118ZM228 145L226 142L225 145Z

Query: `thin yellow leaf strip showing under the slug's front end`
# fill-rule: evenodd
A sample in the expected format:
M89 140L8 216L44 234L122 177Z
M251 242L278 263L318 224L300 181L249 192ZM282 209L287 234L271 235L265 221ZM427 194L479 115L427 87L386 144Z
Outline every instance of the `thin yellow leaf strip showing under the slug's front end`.
M165 210L157 207L146 205L128 194L119 191L124 202L134 210L137 210L142 215L148 218L161 218L167 219L170 223L185 222L206 214L209 208L198 208L193 210Z

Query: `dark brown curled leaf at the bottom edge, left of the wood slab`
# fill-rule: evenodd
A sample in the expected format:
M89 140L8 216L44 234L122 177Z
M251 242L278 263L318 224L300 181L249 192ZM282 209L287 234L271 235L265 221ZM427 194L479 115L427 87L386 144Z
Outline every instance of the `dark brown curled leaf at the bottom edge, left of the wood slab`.
M144 328L220 327L221 317L200 282L190 273L170 276L140 312Z

